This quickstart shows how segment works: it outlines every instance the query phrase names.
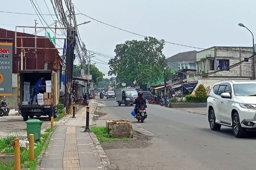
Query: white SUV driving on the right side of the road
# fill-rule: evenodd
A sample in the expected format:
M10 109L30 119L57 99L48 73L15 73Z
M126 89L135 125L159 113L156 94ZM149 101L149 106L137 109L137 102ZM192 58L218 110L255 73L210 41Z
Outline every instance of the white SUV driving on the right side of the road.
M235 137L256 130L256 81L221 81L214 84L207 99L212 130L232 127Z

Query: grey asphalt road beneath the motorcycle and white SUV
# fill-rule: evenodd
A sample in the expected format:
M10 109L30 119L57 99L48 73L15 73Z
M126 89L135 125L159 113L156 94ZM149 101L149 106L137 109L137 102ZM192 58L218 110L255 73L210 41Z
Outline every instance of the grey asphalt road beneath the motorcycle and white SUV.
M179 169L254 169L256 165L255 133L238 139L229 127L212 131L206 115L150 104L147 108L148 118L144 123L137 123L131 115L133 106L118 106L111 99L100 101L106 105L103 110L108 113L108 119L129 119L134 126L154 134L159 144L154 147L157 149L152 154L165 157L155 157L156 162ZM176 159L171 163L173 157Z

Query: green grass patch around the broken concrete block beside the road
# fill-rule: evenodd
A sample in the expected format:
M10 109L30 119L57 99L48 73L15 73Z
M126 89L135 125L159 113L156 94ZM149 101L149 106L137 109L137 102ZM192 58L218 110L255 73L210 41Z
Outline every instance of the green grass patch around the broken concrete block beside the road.
M107 131L106 127L91 127L100 142L131 141L132 138L114 138L112 133Z

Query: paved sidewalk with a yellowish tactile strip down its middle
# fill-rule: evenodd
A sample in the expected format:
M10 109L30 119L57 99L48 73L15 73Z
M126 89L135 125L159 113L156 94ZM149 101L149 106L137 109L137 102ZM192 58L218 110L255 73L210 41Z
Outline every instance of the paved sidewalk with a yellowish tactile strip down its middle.
M92 122L97 101L91 100L89 106ZM43 155L40 169L104 169L102 162L108 164L108 158L95 135L84 132L85 128L82 126L85 126L85 120L86 107L83 107L77 112L76 118L69 118L66 123L55 129L49 147Z

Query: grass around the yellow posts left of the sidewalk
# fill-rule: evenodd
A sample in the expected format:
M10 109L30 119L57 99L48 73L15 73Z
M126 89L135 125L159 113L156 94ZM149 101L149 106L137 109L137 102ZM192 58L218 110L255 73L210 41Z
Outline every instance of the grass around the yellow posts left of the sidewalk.
M29 168L29 170L34 170L37 168L38 165L38 156L40 156L42 149L47 149L49 142L46 141L50 133L52 132L51 128L48 128L45 130L45 133L41 134L41 141L34 143L34 161L29 161L29 150L25 150L25 148L20 147L20 162L21 162L21 168ZM15 137L12 137L13 139ZM11 141L9 137L4 138L7 141ZM7 146L7 145L6 145ZM2 147L2 145L1 145ZM6 147L5 147L6 148ZM9 146L6 150L5 153L14 153L14 148L13 146ZM0 162L0 169L1 170L9 170L14 168L14 162L9 162L9 163L2 163Z

